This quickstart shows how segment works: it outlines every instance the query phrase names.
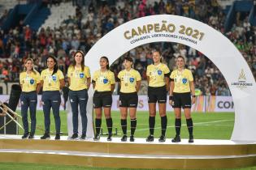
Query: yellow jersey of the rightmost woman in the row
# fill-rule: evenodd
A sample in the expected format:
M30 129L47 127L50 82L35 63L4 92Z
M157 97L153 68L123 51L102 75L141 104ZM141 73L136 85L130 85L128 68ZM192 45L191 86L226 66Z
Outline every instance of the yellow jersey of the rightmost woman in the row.
M179 70L173 70L171 72L171 81L174 81L173 92L184 93L190 92L189 82L193 81L193 75L191 70L184 69L181 72Z

